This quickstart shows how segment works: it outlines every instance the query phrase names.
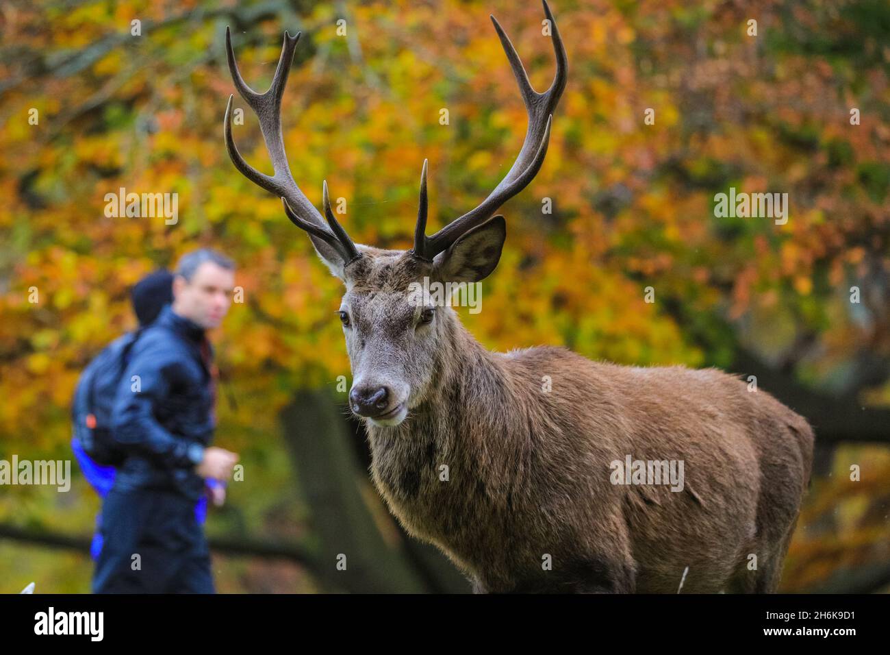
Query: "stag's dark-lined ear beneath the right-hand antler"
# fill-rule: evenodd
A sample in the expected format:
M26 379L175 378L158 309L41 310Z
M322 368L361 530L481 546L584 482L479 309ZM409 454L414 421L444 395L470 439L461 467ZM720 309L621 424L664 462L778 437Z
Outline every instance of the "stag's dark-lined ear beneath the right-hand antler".
M479 282L498 266L506 239L506 221L500 214L462 234L448 250L433 258L436 276L445 282Z

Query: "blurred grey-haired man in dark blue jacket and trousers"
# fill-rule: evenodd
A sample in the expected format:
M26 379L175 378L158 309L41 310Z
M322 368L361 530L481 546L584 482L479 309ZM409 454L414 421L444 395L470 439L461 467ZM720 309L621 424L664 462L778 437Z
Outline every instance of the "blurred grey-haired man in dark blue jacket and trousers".
M223 321L233 286L231 259L190 252L176 267L173 303L134 344L113 410L126 458L102 506L94 593L214 593L195 503L205 479L231 477L238 455L210 446L214 364L205 331ZM216 487L214 502L223 493Z

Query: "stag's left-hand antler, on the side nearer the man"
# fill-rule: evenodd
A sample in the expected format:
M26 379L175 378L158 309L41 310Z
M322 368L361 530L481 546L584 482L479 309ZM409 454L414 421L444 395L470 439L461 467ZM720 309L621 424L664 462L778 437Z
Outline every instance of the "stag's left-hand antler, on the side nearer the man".
M284 87L287 85L287 75L290 72L291 63L294 61L294 51L299 38L300 32L297 32L295 37L291 37L287 32L284 33L284 44L281 46L278 68L275 69L275 76L272 78L271 86L264 94L258 94L250 86L247 86L247 83L241 78L238 64L235 62L235 53L231 48L231 34L228 27L225 29L225 48L232 81L241 97L244 98L245 102L256 114L256 118L260 120L263 141L266 144L266 151L269 152L275 175L267 176L260 173L260 171L256 170L241 157L238 147L231 136L232 95L229 96L229 103L225 108L223 124L226 150L229 151L229 157L232 163L235 164L235 168L238 168L243 176L281 198L281 201L284 203L285 214L287 214L287 217L290 218L294 225L305 230L312 237L328 244L330 248L343 258L344 265L346 265L360 258L361 255L352 239L349 238L343 227L337 223L330 209L328 183L325 182L323 184L323 202L325 215L328 219L326 225L319 210L315 209L312 202L306 198L303 192L300 191L300 187L296 185L290 166L287 164L287 154L284 150L284 137L281 135L281 97L284 94Z

